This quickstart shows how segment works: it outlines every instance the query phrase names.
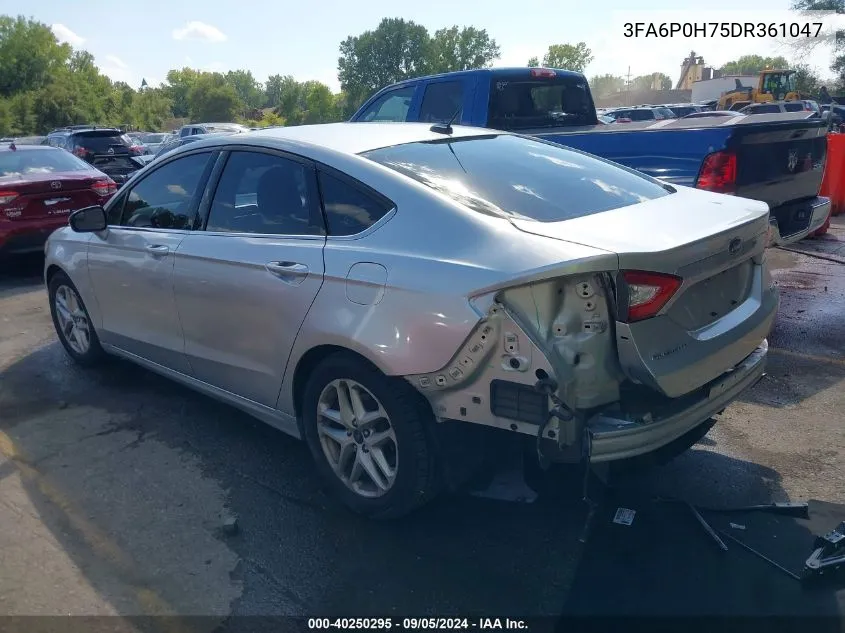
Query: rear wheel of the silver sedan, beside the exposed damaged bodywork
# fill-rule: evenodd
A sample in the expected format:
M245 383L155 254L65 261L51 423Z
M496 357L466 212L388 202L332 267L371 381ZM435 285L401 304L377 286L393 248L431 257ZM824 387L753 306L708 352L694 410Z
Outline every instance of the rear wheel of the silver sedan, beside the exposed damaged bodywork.
M333 354L308 380L302 417L317 470L354 512L398 518L436 494L431 408L403 379Z

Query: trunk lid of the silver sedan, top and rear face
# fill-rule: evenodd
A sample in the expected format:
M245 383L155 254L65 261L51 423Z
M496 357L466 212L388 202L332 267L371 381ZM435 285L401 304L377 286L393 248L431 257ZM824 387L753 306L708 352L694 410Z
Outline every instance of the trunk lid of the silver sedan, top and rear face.
M620 365L635 383L678 397L729 370L768 333L771 315L761 309L767 211L760 202L678 188L565 222L512 222L528 233L616 253ZM647 284L626 279L625 271L677 283L654 314L628 318L631 298Z

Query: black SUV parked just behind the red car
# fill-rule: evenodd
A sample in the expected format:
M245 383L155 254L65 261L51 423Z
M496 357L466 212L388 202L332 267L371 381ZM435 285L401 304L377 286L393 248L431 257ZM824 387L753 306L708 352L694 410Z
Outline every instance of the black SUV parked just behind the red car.
M66 149L109 176L118 186L143 167L137 157L145 149L117 128L62 128L50 132L44 144Z

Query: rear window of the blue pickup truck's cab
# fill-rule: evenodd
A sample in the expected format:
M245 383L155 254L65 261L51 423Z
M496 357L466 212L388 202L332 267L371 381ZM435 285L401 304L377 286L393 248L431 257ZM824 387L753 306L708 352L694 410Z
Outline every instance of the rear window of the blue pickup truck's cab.
M489 108L488 125L499 130L594 125L596 122L596 109L587 81L581 78L503 80L494 77Z

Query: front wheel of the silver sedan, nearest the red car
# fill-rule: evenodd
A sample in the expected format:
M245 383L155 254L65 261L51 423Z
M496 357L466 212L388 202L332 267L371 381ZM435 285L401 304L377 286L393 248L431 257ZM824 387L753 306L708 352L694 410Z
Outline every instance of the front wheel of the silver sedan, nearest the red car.
M106 354L88 309L70 277L57 272L50 278L47 291L53 326L68 355L85 367L102 362Z

